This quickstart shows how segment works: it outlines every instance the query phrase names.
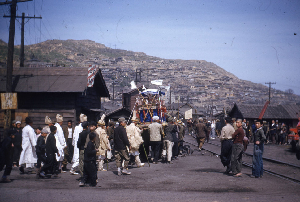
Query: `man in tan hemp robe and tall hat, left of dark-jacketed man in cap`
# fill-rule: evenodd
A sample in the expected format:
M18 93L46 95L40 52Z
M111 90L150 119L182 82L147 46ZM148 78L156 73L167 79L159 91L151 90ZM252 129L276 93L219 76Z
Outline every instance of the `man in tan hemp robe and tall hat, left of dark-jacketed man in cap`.
M105 115L103 114L101 119L98 121L98 128L95 130L96 134L99 136L99 147L97 151L97 159L99 160L98 163L98 171L107 171L103 168L103 163L105 159L105 154L107 151L110 151L110 144L108 140L108 135L105 131L105 122L104 122ZM109 158L109 155L107 154L107 158Z

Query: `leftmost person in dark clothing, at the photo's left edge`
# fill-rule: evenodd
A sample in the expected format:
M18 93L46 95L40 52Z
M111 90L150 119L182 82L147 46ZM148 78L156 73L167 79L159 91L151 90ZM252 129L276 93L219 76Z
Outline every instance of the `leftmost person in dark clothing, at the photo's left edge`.
M11 174L12 169L12 149L13 139L15 138L15 134L18 132L15 129L8 130L8 137L6 137L1 143L0 149L0 172L2 171L4 165L6 165L1 181L11 182L10 179L7 179L7 175Z

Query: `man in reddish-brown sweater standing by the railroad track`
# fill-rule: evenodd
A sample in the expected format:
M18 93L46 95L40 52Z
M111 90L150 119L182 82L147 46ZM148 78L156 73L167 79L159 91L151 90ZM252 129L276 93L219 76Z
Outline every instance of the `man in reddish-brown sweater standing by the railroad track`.
M232 134L233 145L231 154L231 169L234 177L242 177L242 154L244 151L244 130L242 128L242 119L236 121L237 129Z

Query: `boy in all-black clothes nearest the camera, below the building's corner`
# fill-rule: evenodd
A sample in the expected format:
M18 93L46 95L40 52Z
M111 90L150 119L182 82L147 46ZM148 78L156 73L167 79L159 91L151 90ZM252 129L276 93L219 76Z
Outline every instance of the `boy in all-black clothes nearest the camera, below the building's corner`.
M84 164L83 164L83 179L79 183L79 186L84 186L86 182L90 182L93 187L97 186L97 164L96 155L98 149L95 149L96 133L89 134L90 141L84 151Z

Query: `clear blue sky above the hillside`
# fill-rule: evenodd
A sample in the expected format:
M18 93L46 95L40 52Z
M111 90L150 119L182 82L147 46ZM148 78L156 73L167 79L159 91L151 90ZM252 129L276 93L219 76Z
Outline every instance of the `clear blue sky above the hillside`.
M0 7L0 16L10 15L8 5ZM17 4L22 12L42 16L25 24L25 45L89 39L164 59L206 60L240 79L300 95L299 0L33 0ZM8 33L9 18L0 18L0 39L8 42Z

